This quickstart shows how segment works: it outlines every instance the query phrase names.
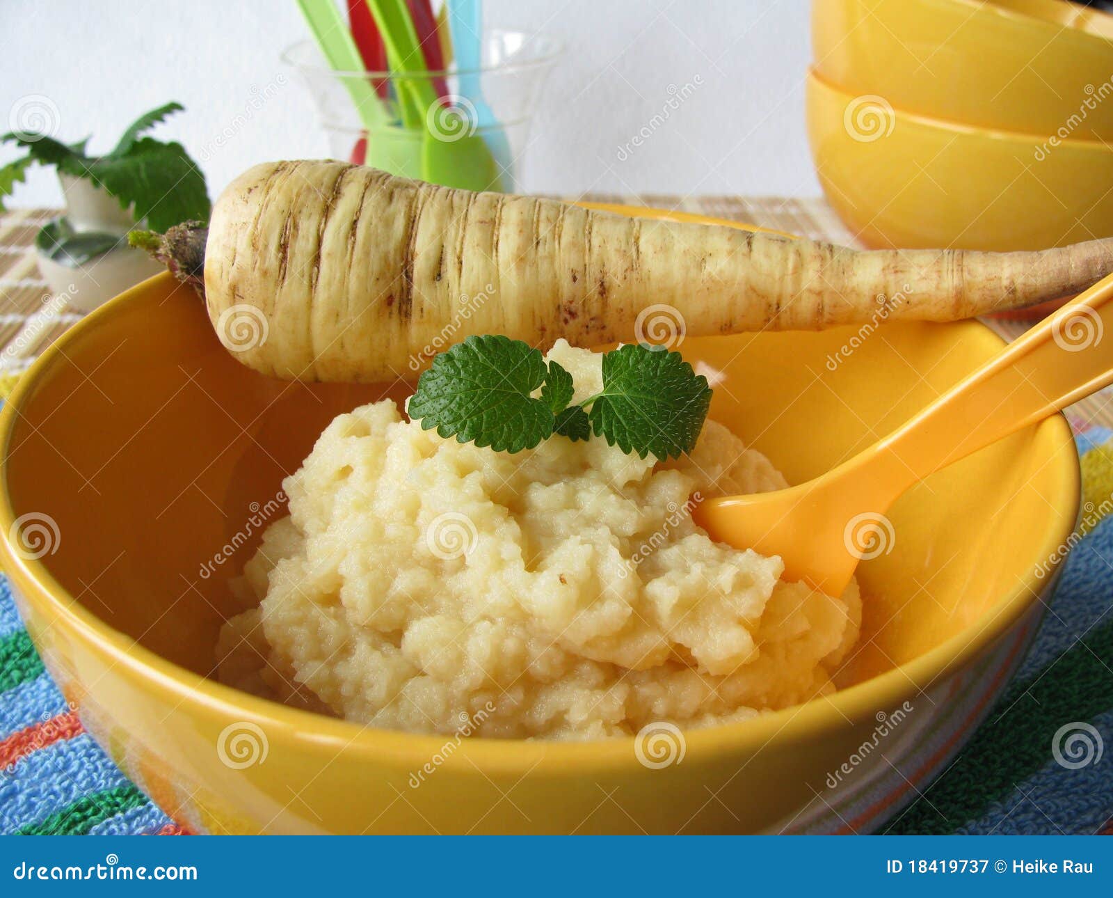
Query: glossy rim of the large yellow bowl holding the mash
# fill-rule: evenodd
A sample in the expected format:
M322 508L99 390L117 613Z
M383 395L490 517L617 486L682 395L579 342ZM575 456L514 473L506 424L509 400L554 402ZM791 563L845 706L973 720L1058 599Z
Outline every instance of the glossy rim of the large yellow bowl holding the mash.
M610 206L612 211L633 212L632 207ZM705 218L707 223L717 219ZM736 226L738 223L733 223ZM0 411L0 564L19 588L24 599L35 605L48 619L61 619L80 640L111 658L114 667L134 672L151 687L169 693L168 701L176 713L201 713L211 716L220 713L225 719L250 720L275 736L285 734L292 740L312 742L322 749L374 759L378 763L400 768L423 762L443 748L443 734L416 734L395 730L371 729L363 724L327 718L308 711L289 707L259 699L232 686L186 670L144 647L131 637L101 621L55 579L41 559L23 558L11 545L10 534L16 519L8 490L8 451L13 424L21 408L33 394L38 382L61 361L68 358L67 349L85 338L108 316L122 308L145 301L148 287L156 279L170 280L169 273L155 277L121 293L100 309L73 324L35 361L20 378ZM185 287L179 287L185 289ZM965 326L973 339L1003 345L1004 341L979 322L962 322L940 326ZM1070 427L1062 414L1053 416L1037 424L1060 431L1064 446L1074 446ZM1073 452L1072 452L1073 455ZM1047 576L1035 576L1035 565L1028 577L1017 580L1003 601L981 615L961 633L928 650L916 658L861 683L838 690L831 695L819 696L800 705L758 715L747 721L726 723L684 731L687 753L713 757L723 753L746 755L765 749L775 741L815 736L863 722L881 710L890 710L909 701L942 676L966 666L982 655L998 637L1003 636L1028 608L1038 602L1056 582L1062 558L1058 547L1066 543L1074 528L1081 498L1081 480L1076 456L1064 470L1071 480L1068 502L1072 514L1064 516L1064 525L1047 527L1044 555L1054 558L1054 569ZM1041 556L1043 557L1043 556ZM33 638L33 637L32 637ZM461 742L457 753L481 765L487 772L525 775L542 760L550 762L544 775L590 775L637 767L632 750L634 736L620 736L591 742L560 742L550 740L491 739L471 736ZM538 775L538 774L534 774Z

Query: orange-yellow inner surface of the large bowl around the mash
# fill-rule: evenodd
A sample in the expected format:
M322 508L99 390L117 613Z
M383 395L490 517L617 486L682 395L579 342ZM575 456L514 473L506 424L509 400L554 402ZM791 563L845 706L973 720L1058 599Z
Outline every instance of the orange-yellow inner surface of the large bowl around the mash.
M721 372L712 416L798 481L892 430L999 345L963 323L681 349ZM159 275L67 334L18 398L4 450L10 513L57 525L41 558L68 594L56 601L208 674L217 629L237 611L227 582L283 514L283 477L335 414L407 389L263 378L220 346L190 291ZM889 514L892 554L859 572L865 633L847 681L1002 614L1073 525L1076 469L1056 417L906 494Z

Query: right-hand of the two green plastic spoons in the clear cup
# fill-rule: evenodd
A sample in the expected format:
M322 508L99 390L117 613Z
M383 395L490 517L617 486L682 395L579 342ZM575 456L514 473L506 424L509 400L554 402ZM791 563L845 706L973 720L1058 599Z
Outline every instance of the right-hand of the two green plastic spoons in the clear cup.
M386 51L401 74L398 94L408 91L414 104L406 110L407 117L416 113L421 118L422 178L445 187L501 191L499 165L486 141L475 134L475 123L443 106L433 90L405 0L367 0L367 3Z

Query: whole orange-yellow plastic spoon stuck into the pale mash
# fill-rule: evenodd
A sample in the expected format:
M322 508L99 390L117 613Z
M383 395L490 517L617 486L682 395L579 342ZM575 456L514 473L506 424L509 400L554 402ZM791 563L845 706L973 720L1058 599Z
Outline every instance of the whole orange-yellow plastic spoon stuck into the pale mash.
M1113 382L1111 299L1113 275L848 461L788 489L709 499L696 523L717 541L779 555L787 579L840 595L878 540L899 538L885 513L902 492Z

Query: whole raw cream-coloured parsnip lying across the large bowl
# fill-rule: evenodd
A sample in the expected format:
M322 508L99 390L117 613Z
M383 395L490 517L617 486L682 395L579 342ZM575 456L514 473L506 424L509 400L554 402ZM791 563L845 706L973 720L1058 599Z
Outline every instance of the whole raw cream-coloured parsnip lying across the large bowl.
M179 227L158 247L199 287L203 236ZM954 321L1077 293L1111 271L1113 238L1027 253L860 252L280 162L220 196L201 292L245 364L372 382L412 374L469 334L542 348L629 341L652 304L673 306L689 335ZM265 340L237 343L242 314L266 321Z

